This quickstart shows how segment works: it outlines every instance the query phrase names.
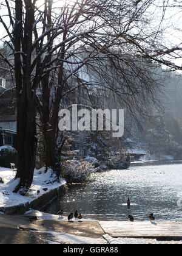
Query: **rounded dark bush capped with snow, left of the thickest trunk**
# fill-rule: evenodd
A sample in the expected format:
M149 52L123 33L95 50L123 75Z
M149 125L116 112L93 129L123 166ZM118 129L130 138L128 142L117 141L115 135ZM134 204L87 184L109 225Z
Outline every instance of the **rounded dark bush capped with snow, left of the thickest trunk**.
M17 164L17 151L10 146L0 147L0 166L10 168L10 163Z

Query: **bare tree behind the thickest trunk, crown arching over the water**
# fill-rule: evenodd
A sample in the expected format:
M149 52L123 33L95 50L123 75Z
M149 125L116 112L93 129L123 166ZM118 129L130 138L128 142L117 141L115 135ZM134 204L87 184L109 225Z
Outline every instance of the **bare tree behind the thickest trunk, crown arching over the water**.
M143 26L147 24L148 21L143 18L143 14L151 3L152 1L144 1L138 6L139 2L136 4L133 1L113 2L105 0L93 3L93 1L87 0L77 1L74 4L67 3L61 8L62 20L59 26L64 30L59 34L60 48L57 48L54 55L49 54L49 52L53 52L53 42L50 44L47 54L49 58L45 60L47 69L44 70L40 84L41 94L36 101L44 134L45 165L47 167L53 167L55 161L58 161L59 158L59 151L56 150L58 149L56 138L58 137L60 102L67 94L78 89L81 73L89 73L89 71L95 73L93 81L82 84L86 90L92 90L92 87L90 87L92 82L102 85L120 95L128 105L131 101L129 98L134 100L140 94L144 101L146 96L143 92L148 94L148 99L149 93L153 93L156 84L153 83L151 86L151 76L144 75L146 73L146 68L144 68L146 63L142 65L140 60L137 65L133 57L133 54L137 52L136 46L135 44L132 46L131 36L127 38L131 29L140 29L139 24L137 24L139 21ZM49 13L50 24L53 24L52 17L52 13ZM123 21L123 24L121 21ZM49 38L51 37L52 31L49 33ZM137 34L135 32L135 37L139 37L139 32ZM144 38L141 37L140 43L143 40ZM118 51L118 48L120 48L120 51ZM138 54L138 57L141 58L141 56L141 54ZM116 83L116 76L115 82L113 82L113 73L118 77L119 82ZM67 88L72 76L77 76L78 83L71 88ZM140 84L135 80L137 76ZM103 77L103 80L101 77ZM147 86L146 81L150 86ZM134 88L134 84L136 87L143 85L143 89ZM58 152L57 156L56 152Z

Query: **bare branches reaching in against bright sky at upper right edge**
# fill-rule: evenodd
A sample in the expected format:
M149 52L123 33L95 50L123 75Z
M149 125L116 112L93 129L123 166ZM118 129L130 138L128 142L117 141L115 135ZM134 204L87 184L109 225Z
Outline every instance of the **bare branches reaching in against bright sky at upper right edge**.
M182 66L181 43L181 0L164 0L153 2L157 10L158 30L163 30L160 41L155 42L152 51L145 52L146 57L154 62L161 63L167 71L180 71ZM137 43L136 43L137 44ZM144 49L141 49L144 51Z

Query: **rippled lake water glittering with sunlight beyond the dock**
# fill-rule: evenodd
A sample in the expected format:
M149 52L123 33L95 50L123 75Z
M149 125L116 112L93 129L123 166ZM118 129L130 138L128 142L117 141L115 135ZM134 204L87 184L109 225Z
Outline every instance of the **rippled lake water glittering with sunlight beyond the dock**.
M55 214L63 209L68 215L77 209L84 218L109 221L126 221L129 214L143 221L150 212L156 220L182 220L181 207L177 205L182 192L181 174L180 162L101 172L90 183L70 185L66 195L43 210Z

